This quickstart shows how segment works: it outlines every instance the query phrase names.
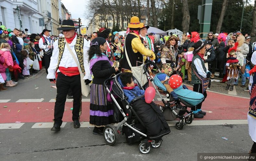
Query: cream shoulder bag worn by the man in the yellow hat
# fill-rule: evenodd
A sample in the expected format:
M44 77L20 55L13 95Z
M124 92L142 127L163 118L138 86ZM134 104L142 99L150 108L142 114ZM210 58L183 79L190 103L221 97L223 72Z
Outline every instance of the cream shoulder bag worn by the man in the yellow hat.
M141 86L144 86L148 82L147 76L145 74L143 74L144 62L140 66L138 66L138 67L132 67L131 66L131 62L129 60L129 57L127 55L126 48L125 48L125 55L126 55L126 59L128 61L128 64L129 64L129 66L131 68L132 75L139 81Z

